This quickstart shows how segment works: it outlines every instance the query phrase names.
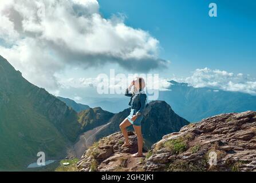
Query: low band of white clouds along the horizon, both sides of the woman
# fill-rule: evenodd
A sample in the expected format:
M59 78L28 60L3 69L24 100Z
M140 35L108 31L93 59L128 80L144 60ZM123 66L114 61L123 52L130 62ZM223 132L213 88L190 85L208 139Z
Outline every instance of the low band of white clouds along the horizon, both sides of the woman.
M153 76L153 75L152 75ZM111 84L111 79L112 84ZM251 78L249 75L242 73L230 73L225 70L219 69L196 69L192 72L192 75L187 78L162 78L157 77L144 77L146 82L146 90L159 89L160 91L171 91L172 85L171 80L177 82L188 83L188 86L193 87L210 87L212 92L219 92L220 90L230 91L230 92L242 92L247 94L256 95L256 79ZM115 81L114 81L115 80ZM109 87L109 89L125 89L131 81L128 78L107 78L102 77L96 78L70 78L61 79L60 83L63 88L76 88L85 89L91 88L95 89L99 85L104 85Z

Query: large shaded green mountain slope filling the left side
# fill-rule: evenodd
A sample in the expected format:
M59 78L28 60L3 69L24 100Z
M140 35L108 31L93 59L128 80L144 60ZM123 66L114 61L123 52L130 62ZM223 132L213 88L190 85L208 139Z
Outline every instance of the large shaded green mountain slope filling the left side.
M0 56L0 170L24 170L37 153L56 160L81 132L77 113Z

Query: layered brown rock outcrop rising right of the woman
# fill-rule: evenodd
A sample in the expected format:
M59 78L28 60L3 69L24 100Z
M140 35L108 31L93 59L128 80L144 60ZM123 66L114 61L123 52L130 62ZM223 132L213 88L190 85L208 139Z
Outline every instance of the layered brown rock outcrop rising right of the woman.
M256 112L221 114L164 136L146 171L256 171Z

